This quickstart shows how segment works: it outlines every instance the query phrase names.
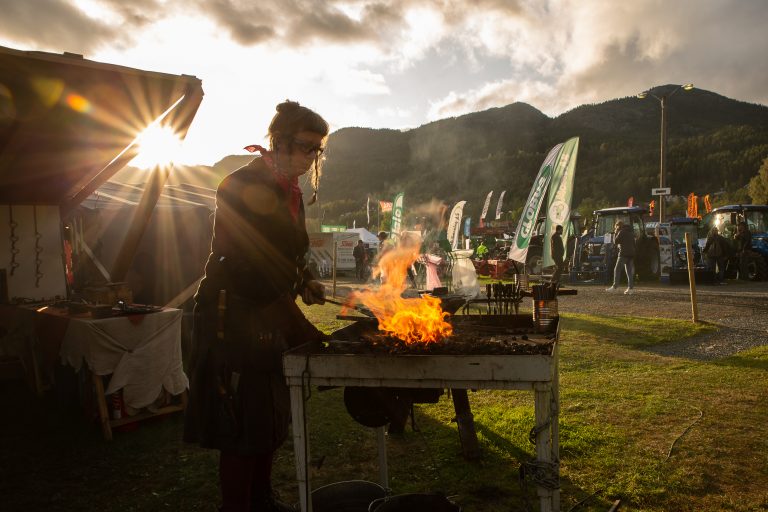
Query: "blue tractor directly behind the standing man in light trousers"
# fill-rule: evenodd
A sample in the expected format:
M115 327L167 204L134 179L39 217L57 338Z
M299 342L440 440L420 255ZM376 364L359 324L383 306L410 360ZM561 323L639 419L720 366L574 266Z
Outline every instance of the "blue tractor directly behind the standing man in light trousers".
M571 282L610 284L616 264L613 244L614 226L618 221L632 226L635 233L635 271L641 280L659 279L659 241L646 232L642 206L622 206L595 210L591 225L576 240L571 263Z

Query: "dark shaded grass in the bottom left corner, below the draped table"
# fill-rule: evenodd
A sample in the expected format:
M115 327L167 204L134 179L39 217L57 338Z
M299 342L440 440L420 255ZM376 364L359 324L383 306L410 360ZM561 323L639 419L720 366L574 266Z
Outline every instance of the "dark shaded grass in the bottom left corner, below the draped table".
M179 413L106 441L98 422L61 394L38 397L20 382L0 382L0 407L3 510L216 510L213 452L182 443Z

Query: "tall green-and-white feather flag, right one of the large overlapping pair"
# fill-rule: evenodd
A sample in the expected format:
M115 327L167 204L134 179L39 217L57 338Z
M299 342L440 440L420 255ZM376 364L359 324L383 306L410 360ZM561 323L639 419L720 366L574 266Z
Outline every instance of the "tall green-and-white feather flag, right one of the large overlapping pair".
M579 153L579 138L573 137L563 143L552 171L552 183L549 185L547 199L547 220L544 224L544 247L542 247L542 266L555 264L552 259L551 244L555 226L563 226L563 244L574 233L571 231L571 198L573 197L573 178L576 176L576 156ZM634 198L629 198L634 203ZM631 206L631 205L630 205Z

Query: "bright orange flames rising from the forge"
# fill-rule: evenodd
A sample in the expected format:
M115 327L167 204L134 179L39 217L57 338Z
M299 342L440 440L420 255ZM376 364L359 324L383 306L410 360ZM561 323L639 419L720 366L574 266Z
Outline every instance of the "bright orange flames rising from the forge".
M379 320L379 330L406 343L434 343L450 336L448 313L440 299L425 295L404 298L408 268L419 256L417 243L403 243L386 252L375 269L382 276L378 289L354 293L350 299L365 305Z

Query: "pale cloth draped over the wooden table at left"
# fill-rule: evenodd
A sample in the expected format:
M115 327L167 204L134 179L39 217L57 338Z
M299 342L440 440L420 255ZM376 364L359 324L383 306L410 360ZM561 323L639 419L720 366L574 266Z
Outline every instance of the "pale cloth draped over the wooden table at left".
M70 318L61 343L62 362L96 375L112 375L107 395L123 390L126 405L152 404L165 388L178 395L189 387L181 360L180 309L101 319Z

